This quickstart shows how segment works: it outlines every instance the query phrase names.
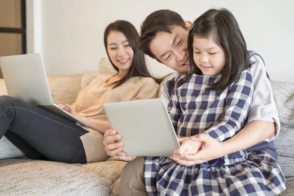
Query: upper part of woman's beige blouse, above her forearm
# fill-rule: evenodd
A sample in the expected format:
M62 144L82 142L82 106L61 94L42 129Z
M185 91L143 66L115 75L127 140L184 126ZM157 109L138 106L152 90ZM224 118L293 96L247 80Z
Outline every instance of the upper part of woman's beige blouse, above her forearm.
M80 116L106 121L102 103L156 98L158 84L150 77L132 77L114 89L106 83L110 77L98 76L79 92L72 107Z

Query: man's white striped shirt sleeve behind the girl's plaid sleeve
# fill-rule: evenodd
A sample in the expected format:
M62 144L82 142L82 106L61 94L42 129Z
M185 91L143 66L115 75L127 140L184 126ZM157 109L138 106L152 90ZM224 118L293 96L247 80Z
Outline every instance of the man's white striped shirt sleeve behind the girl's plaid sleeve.
M254 87L254 96L251 104L251 110L248 114L247 123L252 121L275 122L275 133L265 141L274 140L280 132L280 120L278 111L273 99L270 79L267 77L267 71L263 60L258 55L253 55L250 61L255 62L251 66L252 83Z

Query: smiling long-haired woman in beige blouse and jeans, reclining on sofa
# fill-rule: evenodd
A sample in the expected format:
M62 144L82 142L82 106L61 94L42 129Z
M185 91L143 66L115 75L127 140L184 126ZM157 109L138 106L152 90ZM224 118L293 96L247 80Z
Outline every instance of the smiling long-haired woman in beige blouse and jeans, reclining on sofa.
M109 124L102 103L156 98L158 84L147 71L144 54L135 45L139 34L126 21L107 26L104 44L115 75L95 78L72 106L63 108L89 124L81 127L36 105L0 96L0 138L5 136L31 158L66 163L105 160L102 144ZM22 145L22 146L21 146Z

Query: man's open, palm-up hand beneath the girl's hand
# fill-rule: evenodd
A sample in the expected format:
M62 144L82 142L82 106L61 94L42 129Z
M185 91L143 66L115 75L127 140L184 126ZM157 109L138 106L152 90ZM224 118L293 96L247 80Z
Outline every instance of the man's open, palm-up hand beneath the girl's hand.
M201 142L202 147L194 154L184 153L181 154L181 156L176 156L172 158L174 161L181 165L192 166L227 155L225 143L219 142L206 134L197 134L190 137L190 140L194 142Z

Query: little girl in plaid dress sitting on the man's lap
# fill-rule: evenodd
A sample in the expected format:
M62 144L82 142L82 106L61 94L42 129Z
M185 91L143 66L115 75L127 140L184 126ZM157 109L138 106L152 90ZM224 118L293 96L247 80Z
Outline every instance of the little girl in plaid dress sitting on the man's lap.
M194 22L188 38L191 72L176 78L169 112L181 146L172 157L146 157L149 195L277 195L286 189L276 160L246 150L200 165L179 164L201 149L190 139L206 134L222 142L245 124L253 98L248 52L238 23L226 9L211 9ZM194 63L193 63L194 62ZM194 74L191 74L194 73Z

